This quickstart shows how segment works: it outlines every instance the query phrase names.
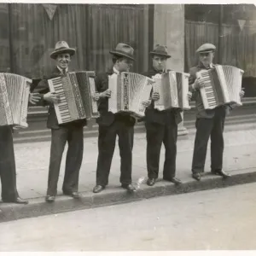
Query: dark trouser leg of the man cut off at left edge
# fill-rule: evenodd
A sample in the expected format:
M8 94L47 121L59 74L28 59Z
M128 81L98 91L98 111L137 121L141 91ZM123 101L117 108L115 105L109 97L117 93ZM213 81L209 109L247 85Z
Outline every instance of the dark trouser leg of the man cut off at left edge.
M15 150L12 128L0 126L0 177L3 201L15 201L16 188Z

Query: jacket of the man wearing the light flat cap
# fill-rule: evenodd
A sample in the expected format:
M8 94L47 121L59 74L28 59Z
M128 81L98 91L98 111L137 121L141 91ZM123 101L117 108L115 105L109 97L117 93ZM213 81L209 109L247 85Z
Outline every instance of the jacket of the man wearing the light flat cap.
M213 65L214 67L214 65ZM201 71L202 69L206 69L206 67L204 67L201 63L196 66L196 67L192 67L189 70L190 73L190 77L189 77L189 91L192 92L192 100L195 100L195 108L196 108L196 117L197 118L204 118L204 119L212 119L214 117L215 114L215 110L214 109L205 109L203 106L203 102L202 102L202 98L201 98L201 93L200 90L193 90L192 89L192 84L195 83L195 79L196 79L196 73ZM231 107L230 106L220 106L218 108L224 108L224 111L226 112L226 114L230 113Z

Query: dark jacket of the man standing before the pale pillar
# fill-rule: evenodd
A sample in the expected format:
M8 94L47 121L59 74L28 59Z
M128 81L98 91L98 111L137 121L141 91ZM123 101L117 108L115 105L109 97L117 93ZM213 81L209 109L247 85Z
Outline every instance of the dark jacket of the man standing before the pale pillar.
M151 79L157 73L159 72L152 69L149 70L147 73L143 73L143 75ZM148 108L146 108L144 120L146 123L157 123L160 125L164 125L166 124L166 119L168 119L170 115L174 115L175 123L176 125L178 125L183 120L181 112L181 109L175 108L159 111L157 109L154 109L154 101L152 101L151 105Z

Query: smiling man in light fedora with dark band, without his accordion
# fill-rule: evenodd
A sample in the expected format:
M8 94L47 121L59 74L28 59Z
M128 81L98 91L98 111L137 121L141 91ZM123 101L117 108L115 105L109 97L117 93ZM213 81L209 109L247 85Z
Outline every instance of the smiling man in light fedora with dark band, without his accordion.
M45 198L48 202L55 201L61 159L66 143L68 143L68 148L62 191L64 195L79 198L79 171L83 160L83 128L86 125L86 119L59 125L54 108L54 103L59 102L59 98L58 95L49 92L49 84L47 82L47 79L60 77L69 71L68 65L74 54L75 49L69 48L67 42L57 42L55 44L55 50L50 54L50 58L55 60L56 66L52 73L48 77L45 77L39 84L40 87L44 88L41 91L44 94L44 101L49 102L47 127L51 129L51 147L48 189Z

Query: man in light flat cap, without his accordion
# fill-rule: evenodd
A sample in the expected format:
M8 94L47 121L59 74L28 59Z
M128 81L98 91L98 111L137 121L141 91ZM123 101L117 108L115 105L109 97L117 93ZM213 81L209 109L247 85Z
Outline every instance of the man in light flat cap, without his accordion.
M196 73L201 69L214 68L212 64L214 52L216 50L213 44L202 44L197 50L199 55L199 65L192 67L189 71L189 90L193 93L196 108L196 134L194 154L192 160L192 177L195 180L201 180L201 173L204 172L207 144L209 137L211 137L211 172L214 175L222 177L230 177L230 174L222 170L223 154L224 154L224 120L226 114L230 113L232 107L220 106L214 109L204 109L200 88L203 86L201 79L196 79ZM244 95L241 90L240 96Z

